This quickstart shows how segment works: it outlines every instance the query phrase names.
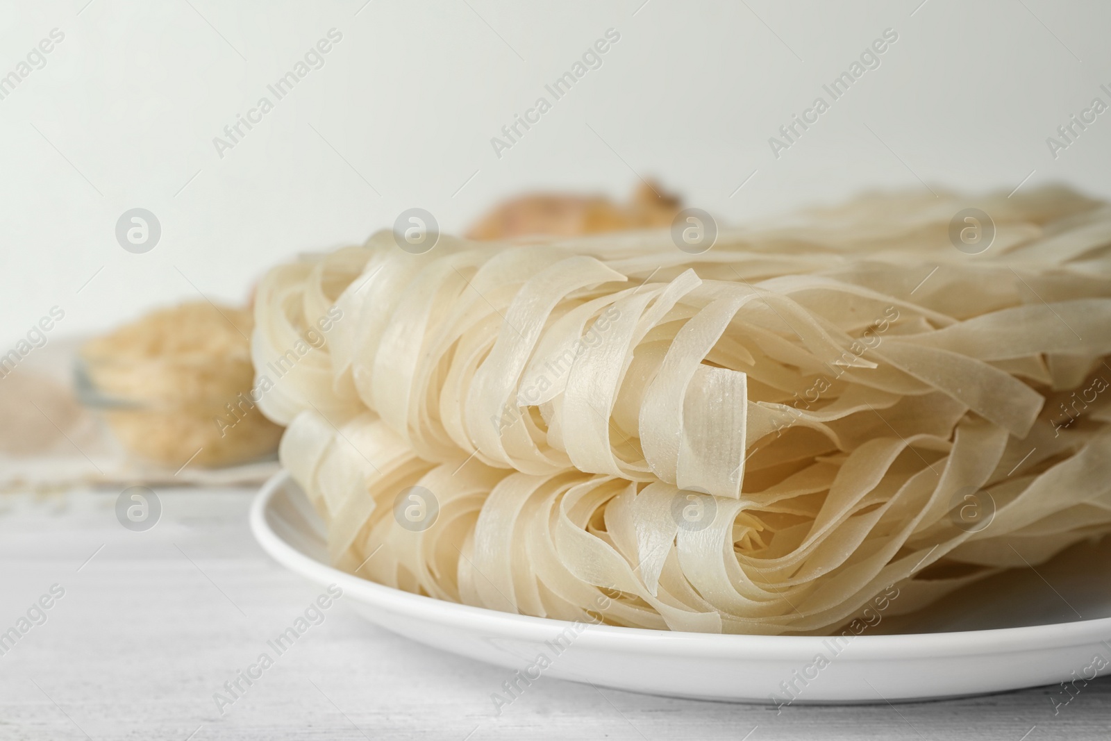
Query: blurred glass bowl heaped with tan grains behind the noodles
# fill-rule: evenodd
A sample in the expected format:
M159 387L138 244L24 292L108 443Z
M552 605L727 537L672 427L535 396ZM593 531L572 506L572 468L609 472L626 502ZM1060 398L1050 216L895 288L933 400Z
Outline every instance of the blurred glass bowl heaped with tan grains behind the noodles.
M252 329L249 309L199 301L151 312L81 349L87 402L124 448L163 465L272 452L282 428L243 402L254 380ZM238 421L221 424L231 409Z

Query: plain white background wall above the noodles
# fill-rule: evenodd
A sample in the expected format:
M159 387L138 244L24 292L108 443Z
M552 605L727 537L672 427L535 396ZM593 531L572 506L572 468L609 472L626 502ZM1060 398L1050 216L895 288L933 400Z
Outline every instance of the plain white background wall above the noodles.
M66 38L0 100L0 348L54 304L57 336L198 290L238 301L406 208L461 230L530 188L624 198L654 176L724 221L1032 171L1023 188L1111 197L1111 112L1057 159L1045 143L1111 102L1108 2L363 2L4 0L0 76ZM324 67L221 159L213 137L333 27ZM603 66L497 158L490 138L611 27ZM887 28L881 67L774 158L768 138ZM114 238L134 207L162 226L146 254Z

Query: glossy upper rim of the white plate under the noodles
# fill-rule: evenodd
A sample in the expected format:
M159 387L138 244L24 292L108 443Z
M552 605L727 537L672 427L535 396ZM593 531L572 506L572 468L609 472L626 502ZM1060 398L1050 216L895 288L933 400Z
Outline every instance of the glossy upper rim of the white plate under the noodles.
M387 587L318 561L288 543L267 522L267 510L278 491L292 482L282 468L254 494L250 509L251 534L263 551L280 565L321 584L336 583L363 598L360 602L393 613L432 622L469 628L521 640L550 640L575 625L567 620L502 612L432 597L413 594ZM681 655L691 659L783 659L788 655L809 659L828 648L831 635L749 635L743 633L698 633L622 625L581 623L575 643L610 651ZM985 655L992 653L1038 652L1047 649L1104 643L1111 648L1111 618L1073 620L1041 625L992 628L939 633L895 633L854 635L851 642L857 661L890 661L910 658ZM845 649L849 647L847 645Z

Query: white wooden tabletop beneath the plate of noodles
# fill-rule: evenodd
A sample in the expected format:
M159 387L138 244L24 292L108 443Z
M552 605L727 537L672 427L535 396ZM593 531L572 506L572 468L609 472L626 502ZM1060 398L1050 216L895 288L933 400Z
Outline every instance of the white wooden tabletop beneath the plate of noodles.
M159 490L146 532L118 491L0 495L0 739L1107 739L1111 678L958 701L773 708L542 679L498 717L504 671L368 624L340 599L221 714L213 693L319 593L256 545L253 492ZM91 558L90 558L91 557Z

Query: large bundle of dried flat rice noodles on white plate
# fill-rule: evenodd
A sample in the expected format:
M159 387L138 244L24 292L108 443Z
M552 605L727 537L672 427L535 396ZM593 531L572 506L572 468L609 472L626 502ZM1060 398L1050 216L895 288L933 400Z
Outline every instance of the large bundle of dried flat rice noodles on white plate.
M263 280L260 407L333 562L384 584L711 632L829 632L892 584L909 612L1111 531L1111 208L984 199L967 254L964 206L702 254L381 232Z

